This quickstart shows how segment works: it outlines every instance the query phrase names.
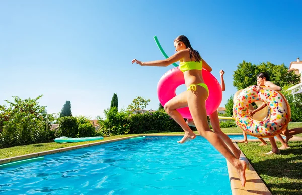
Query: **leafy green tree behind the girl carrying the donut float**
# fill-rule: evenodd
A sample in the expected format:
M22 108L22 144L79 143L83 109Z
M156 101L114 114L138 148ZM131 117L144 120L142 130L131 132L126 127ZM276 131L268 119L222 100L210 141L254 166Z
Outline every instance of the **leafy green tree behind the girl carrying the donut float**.
M281 87L300 82L300 75L294 74L293 71L288 72L288 68L284 64L275 65L267 62L255 65L251 62L243 61L238 64L237 70L234 71L233 85L237 90L256 85L257 75L260 72L268 73L271 82Z

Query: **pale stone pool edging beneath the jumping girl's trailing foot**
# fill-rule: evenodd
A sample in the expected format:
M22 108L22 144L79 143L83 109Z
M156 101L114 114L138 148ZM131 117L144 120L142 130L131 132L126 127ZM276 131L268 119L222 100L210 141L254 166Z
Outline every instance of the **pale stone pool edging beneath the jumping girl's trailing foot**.
M237 149L240 150L237 143L233 143ZM240 150L241 151L241 150ZM255 171L249 160L246 158L244 153L241 151L240 159L247 163L246 169L246 184L245 187L241 186L240 179L236 172L236 169L231 165L231 163L226 160L226 166L228 167L228 174L230 180L230 186L232 195L244 195L244 194L264 194L271 195L271 192L264 184L263 180L260 178L258 173Z

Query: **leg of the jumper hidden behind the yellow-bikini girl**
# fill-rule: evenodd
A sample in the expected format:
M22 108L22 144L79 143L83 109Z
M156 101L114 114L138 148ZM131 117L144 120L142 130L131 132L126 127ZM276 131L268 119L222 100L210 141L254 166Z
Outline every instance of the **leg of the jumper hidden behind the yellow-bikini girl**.
M224 143L229 146L229 148L233 152L234 156L237 159L239 159L241 151L235 147L235 145L233 144L233 142L229 138L229 136L227 136L225 133L223 133L221 131L220 121L218 118L218 112L217 111L213 112L209 117L210 117L214 132L220 136L220 138L224 141Z

